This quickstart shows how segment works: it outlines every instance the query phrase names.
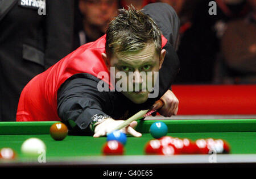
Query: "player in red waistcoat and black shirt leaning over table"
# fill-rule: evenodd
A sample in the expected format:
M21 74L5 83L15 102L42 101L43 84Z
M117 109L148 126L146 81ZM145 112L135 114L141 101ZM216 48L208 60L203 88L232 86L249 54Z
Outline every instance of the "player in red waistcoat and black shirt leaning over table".
M179 69L173 47L178 29L179 19L166 3L152 3L142 11L132 6L120 10L106 35L82 45L26 85L16 120L61 120L71 131L90 129L99 137L139 110L149 109L158 99L164 102L160 114L177 114L179 101L170 88ZM110 73L113 67L114 73ZM139 73L158 71L159 88L142 89L145 79ZM102 72L107 75L100 76ZM126 77L127 84L138 85L139 91L113 90L118 80L113 84L110 79L117 78L118 72L133 72L132 77ZM102 82L109 90L98 90ZM153 92L158 95L149 98ZM136 125L136 121L131 122L122 131L139 137Z

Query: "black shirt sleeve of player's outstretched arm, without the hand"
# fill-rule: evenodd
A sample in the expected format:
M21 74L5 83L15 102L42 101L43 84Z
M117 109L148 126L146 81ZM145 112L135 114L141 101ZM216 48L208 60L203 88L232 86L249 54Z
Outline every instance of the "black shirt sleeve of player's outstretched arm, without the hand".
M73 120L82 130L89 127L93 115L107 115L112 106L106 92L97 90L98 79L90 74L78 74L60 87L57 109L61 120ZM109 109L108 109L109 107Z

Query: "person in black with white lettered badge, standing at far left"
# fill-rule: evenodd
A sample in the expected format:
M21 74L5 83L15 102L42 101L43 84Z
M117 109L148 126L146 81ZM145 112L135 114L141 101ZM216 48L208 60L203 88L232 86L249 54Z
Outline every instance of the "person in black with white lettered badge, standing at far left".
M28 81L72 51L73 1L1 0L0 27L0 121L15 121Z

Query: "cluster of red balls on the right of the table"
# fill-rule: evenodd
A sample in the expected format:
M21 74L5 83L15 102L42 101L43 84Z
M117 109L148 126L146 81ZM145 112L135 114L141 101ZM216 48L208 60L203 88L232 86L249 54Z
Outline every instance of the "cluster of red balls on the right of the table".
M146 143L144 152L147 155L180 155L180 154L210 154L229 153L230 147L222 139L190 139L164 136Z

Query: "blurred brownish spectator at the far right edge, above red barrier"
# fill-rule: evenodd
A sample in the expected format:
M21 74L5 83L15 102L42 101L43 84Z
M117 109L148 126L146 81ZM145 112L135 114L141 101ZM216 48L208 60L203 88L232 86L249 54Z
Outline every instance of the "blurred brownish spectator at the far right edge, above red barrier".
M254 8L252 13L226 24L216 66L217 83L256 83L256 2L250 3Z

